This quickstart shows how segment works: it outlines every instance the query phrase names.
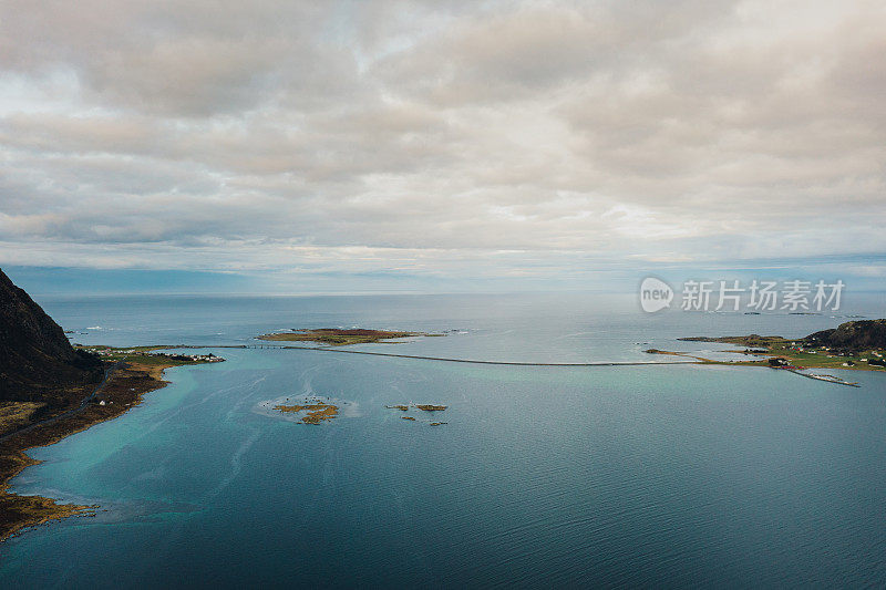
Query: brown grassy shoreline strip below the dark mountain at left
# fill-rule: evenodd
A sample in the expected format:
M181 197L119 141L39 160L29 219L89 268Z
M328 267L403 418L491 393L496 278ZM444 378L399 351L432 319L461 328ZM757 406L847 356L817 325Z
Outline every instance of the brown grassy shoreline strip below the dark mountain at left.
M86 398L82 408L61 412L50 423L35 428L20 429L0 443L0 542L23 529L72 516L94 516L97 506L56 504L43 496L21 496L9 491L12 479L27 467L41 462L27 454L31 448L49 446L95 424L119 417L144 400L145 394L165 387L169 382L163 372L181 363L145 365L138 362L120 363L107 380ZM104 403L92 397L101 390Z

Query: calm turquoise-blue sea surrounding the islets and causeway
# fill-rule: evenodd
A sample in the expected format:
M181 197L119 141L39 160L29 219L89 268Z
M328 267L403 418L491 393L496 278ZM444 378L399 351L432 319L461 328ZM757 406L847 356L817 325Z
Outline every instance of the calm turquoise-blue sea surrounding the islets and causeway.
M465 332L368 350L529 361L648 361L642 342L844 321L648 317L578 297L41 303L86 342L360 324ZM0 586L886 584L886 375L853 373L853 389L741 368L220 353L32 452L44 463L17 491L103 510L9 540ZM343 415L315 427L261 410L305 395ZM447 424L384 407L406 402L449 405Z

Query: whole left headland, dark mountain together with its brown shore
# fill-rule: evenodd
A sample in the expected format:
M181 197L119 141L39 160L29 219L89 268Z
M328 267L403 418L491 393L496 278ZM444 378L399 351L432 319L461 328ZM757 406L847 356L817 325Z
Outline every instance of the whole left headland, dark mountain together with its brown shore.
M27 449L123 414L166 385L164 369L222 360L150 348L96 349L101 354L72 346L61 327L0 270L0 541L27 527L95 510L9 493L10 480L38 463Z

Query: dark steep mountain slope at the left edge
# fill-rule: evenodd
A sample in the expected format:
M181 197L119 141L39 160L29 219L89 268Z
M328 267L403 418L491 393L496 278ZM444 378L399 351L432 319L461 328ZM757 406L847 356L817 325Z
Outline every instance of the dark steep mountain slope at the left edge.
M101 361L71 346L61 327L0 269L0 402L64 406L102 374Z

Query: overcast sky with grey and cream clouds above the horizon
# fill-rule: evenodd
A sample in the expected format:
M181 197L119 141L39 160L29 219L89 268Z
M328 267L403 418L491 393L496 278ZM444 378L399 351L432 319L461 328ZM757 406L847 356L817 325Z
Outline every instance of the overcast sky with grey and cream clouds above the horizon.
M882 1L0 0L38 290L886 288Z

